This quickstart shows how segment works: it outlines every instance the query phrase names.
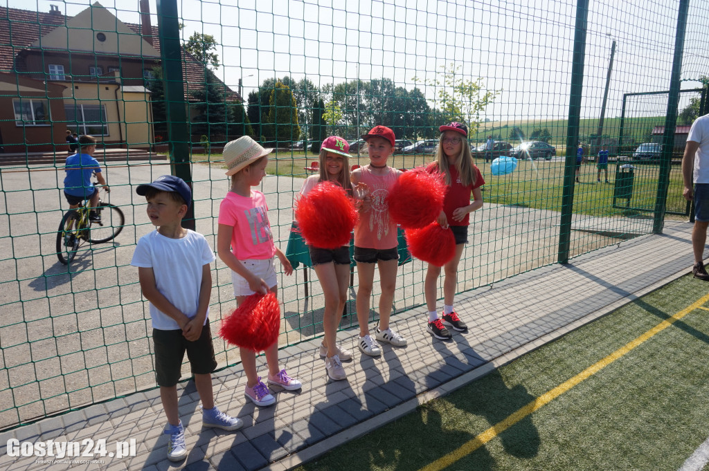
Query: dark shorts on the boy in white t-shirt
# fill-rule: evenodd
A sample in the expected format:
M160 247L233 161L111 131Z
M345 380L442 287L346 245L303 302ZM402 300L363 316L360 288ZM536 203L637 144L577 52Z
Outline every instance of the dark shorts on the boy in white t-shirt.
M194 342L185 339L180 329L152 329L152 345L155 348L155 376L159 386L177 385L182 375L182 359L185 351L192 374L206 375L217 368L209 321L204 324L199 339Z

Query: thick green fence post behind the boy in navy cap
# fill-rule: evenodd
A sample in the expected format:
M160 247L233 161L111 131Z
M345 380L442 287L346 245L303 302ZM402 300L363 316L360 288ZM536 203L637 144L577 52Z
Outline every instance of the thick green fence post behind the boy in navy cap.
M160 32L160 62L165 89L170 166L172 174L182 178L192 188L192 175L189 168L190 135L187 129L187 103L184 100L177 0L157 0L156 8L157 25ZM194 203L188 208L187 214L182 220L182 226L187 229L195 229Z

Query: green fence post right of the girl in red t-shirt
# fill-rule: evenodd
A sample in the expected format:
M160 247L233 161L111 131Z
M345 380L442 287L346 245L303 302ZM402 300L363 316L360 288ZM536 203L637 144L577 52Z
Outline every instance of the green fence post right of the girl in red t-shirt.
M581 120L581 93L584 91L584 61L586 59L586 25L588 0L576 4L576 34L574 35L574 64L571 68L571 98L569 99L569 124L566 128L566 160L564 161L564 192L562 193L562 218L559 225L559 263L569 261L571 241L571 216L574 210L574 174L576 173L576 145L579 142Z

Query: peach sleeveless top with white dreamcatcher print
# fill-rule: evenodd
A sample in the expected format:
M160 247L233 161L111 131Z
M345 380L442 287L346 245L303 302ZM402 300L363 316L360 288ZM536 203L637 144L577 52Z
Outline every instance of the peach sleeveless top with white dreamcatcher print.
M359 174L359 181L369 186L372 205L367 212L359 213L359 222L354 227L354 245L366 249L386 250L395 248L396 222L389 217L389 205L386 197L396 183L399 172L391 167L384 175L372 174L369 165L365 165Z

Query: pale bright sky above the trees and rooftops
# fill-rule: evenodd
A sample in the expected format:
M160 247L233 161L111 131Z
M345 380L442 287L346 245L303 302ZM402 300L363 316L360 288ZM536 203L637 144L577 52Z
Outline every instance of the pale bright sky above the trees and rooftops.
M165 1L165 0L162 0ZM13 8L74 15L88 0L0 0ZM121 21L139 23L138 0L101 0ZM183 34L213 35L232 89L244 95L264 79L307 76L318 86L393 79L434 98L441 67L481 77L499 91L482 118L563 119L568 115L576 2L570 0L177 0ZM623 93L669 89L679 0L590 0L582 117L601 110L613 40L616 51L606 117L620 115ZM156 0L150 0L157 25ZM709 11L691 2L682 87L709 75ZM414 79L418 78L416 82ZM680 107L686 106L688 94ZM431 102L430 104L434 104ZM637 113L664 114L661 98L636 98Z

